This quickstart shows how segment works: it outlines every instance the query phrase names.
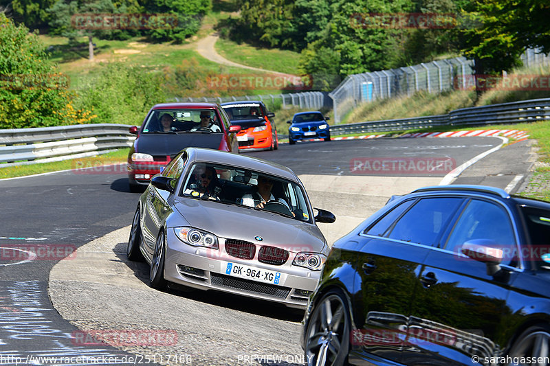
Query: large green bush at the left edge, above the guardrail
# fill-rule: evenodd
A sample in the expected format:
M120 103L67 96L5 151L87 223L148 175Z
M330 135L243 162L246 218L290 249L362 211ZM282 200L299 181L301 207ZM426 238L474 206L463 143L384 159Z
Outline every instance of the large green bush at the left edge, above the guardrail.
M0 128L90 122L95 116L73 106L67 87L38 36L0 13Z

